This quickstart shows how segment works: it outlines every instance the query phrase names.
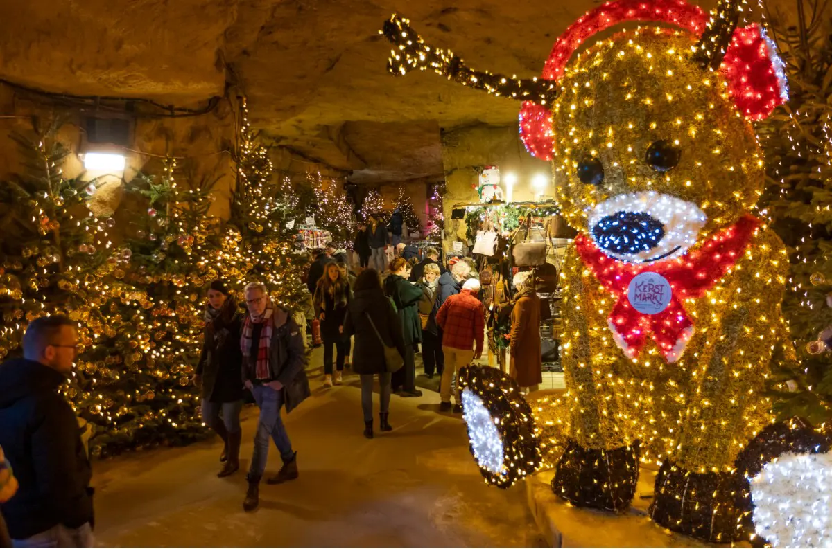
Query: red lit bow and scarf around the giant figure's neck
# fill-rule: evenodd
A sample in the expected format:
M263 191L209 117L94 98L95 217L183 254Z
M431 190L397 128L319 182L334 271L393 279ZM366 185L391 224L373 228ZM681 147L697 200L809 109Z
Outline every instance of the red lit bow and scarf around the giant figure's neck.
M698 250L648 265L616 261L598 249L591 238L579 234L575 238L575 248L583 264L617 298L607 321L622 350L635 358L644 347L647 334L652 333L661 354L668 362L674 362L681 355L680 347L684 349L693 333L693 320L682 301L701 297L724 277L745 251L759 225L757 218L745 215L709 238ZM657 272L670 282L673 295L664 311L645 315L631 306L627 290L631 280L641 272Z

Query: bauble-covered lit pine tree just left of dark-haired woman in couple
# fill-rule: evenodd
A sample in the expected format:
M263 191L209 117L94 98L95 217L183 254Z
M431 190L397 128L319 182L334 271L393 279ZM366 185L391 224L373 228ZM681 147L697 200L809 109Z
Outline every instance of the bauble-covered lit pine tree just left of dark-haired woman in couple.
M218 245L212 223L210 186L186 189L176 182L176 163L162 175L140 175L129 184L132 213L116 268L123 282L111 291L109 321L116 326L79 360L80 415L96 424L94 455L157 444L185 444L206 434L198 391L191 385L203 330L203 293L216 272L201 261Z

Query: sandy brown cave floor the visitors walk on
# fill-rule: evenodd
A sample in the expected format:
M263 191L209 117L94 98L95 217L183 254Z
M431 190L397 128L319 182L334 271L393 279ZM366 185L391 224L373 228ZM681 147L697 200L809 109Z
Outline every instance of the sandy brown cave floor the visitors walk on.
M243 411L241 470L216 478L219 439L94 464L97 542L106 547L545 547L522 487L483 483L459 415L438 413L438 378L418 399L391 400L394 431L364 439L357 375L324 389L321 349L312 397L285 417L300 478L260 488L242 510L256 408ZM433 390L431 390L433 389ZM375 410L378 410L378 395ZM376 425L378 430L378 425ZM267 474L280 468L270 448Z

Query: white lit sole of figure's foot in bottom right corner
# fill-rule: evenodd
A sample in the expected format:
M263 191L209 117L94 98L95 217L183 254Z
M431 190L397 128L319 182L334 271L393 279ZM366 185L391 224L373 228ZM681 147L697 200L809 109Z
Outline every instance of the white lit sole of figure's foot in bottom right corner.
M784 453L750 485L755 533L772 547L832 547L832 454Z

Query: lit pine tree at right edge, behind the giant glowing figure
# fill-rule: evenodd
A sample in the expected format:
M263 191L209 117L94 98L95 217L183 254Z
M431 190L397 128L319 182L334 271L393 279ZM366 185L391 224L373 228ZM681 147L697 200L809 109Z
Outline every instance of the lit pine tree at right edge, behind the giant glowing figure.
M784 416L832 424L832 36L819 2L797 0L798 22L774 21L790 100L760 125L770 188L760 201L789 248L783 301L799 367L783 367L775 408ZM784 361L784 365L789 362ZM795 390L796 388L796 390Z

